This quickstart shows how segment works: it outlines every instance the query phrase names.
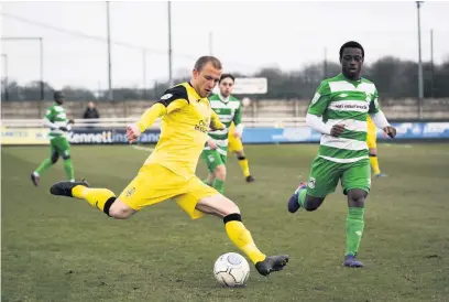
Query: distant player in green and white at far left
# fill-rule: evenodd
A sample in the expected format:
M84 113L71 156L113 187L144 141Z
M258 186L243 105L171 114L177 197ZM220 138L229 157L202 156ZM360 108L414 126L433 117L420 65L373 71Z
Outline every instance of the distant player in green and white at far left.
M74 166L70 159L70 144L65 136L66 132L70 130L74 121L67 119L66 111L62 106L64 103L64 94L62 91L55 91L53 98L55 103L47 109L44 117L44 126L50 128L51 152L50 158L45 159L31 174L31 181L36 186L39 185L41 174L56 163L59 157L64 160L64 170L67 180L75 181Z

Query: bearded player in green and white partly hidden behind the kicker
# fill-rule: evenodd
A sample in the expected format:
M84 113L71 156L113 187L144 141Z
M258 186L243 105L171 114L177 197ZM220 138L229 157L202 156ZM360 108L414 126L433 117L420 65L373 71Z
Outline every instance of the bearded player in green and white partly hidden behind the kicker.
M240 138L243 132L241 103L231 96L233 84L234 77L231 74L222 74L218 83L220 93L209 97L212 110L219 116L226 129L209 132L210 139L201 153L209 169L209 175L205 183L221 194L225 191L228 131L232 121L236 125L233 134Z

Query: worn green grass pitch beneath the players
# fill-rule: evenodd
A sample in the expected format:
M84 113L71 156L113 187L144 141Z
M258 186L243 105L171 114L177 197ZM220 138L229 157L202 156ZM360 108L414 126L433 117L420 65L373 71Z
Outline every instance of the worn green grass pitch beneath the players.
M215 217L191 222L173 202L114 220L83 201L50 195L62 163L34 187L47 148L2 149L2 301L449 301L449 144L380 145L388 179L373 180L360 259L341 267L347 203L286 212L317 145L248 145L256 182L229 160L227 195L266 254L291 255L270 278L221 289L219 255L238 251ZM131 147L74 147L77 177L116 193L147 157ZM206 175L202 162L198 174Z

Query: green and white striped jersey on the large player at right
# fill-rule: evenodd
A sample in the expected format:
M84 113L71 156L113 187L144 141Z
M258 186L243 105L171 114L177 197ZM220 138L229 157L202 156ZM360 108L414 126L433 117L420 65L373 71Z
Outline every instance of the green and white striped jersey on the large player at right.
M335 138L322 134L318 155L347 163L368 159L366 118L380 110L375 85L365 79L350 80L342 74L321 82L308 112L322 116L326 125L342 123L344 132Z

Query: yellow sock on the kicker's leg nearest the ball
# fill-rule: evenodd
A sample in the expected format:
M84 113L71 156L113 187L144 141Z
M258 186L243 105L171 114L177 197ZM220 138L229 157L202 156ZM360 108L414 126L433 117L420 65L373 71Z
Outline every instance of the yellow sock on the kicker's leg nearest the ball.
M229 239L238 246L255 265L259 261L263 261L266 256L263 255L255 246L251 233L244 227L241 222L231 220L226 223L226 233L228 233Z

